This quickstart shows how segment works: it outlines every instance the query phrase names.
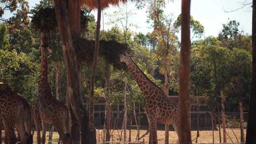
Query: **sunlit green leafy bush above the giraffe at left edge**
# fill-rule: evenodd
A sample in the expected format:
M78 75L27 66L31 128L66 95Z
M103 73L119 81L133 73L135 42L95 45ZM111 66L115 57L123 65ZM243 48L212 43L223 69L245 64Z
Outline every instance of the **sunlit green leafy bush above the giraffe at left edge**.
M0 50L0 81L9 83L11 87L25 98L31 99L35 95L24 95L27 89L35 89L38 67L32 63L26 54L18 54L16 50ZM32 77L31 77L32 76ZM34 83L35 82L35 83Z

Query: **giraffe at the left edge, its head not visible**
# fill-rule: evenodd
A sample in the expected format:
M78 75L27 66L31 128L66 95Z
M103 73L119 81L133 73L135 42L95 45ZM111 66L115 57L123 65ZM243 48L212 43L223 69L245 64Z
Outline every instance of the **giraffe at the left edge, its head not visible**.
M27 120L27 117L25 117L25 115L27 116L26 108L27 105L24 105L23 98L11 90L8 84L0 84L0 119L2 119L4 123L5 144L15 144L15 127L18 130L22 144L33 143L32 135L27 135L26 133L28 131L31 133L31 129L26 130L24 126L24 121Z

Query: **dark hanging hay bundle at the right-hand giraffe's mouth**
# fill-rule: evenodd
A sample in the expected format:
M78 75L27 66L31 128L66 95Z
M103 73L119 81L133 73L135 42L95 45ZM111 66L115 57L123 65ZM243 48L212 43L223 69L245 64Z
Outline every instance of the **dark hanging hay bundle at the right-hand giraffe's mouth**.
M94 56L95 41L84 38L75 38L73 43L76 49L76 55L80 60L91 65ZM119 43L117 41L100 40L99 56L103 57L107 63L110 63L117 69L126 69L124 63L119 63L119 54L129 52L128 44Z

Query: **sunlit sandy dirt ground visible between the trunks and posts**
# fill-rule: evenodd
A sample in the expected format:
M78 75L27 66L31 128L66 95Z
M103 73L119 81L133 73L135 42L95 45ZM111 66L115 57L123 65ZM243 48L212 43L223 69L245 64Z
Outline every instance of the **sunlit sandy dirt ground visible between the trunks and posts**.
M232 141L234 143L240 142L240 129L238 128L234 128L233 129L234 133L237 135L234 135L234 133L232 132L231 129L227 129L227 142L231 143ZM102 130L97 129L97 142L102 142ZM3 135L4 131L2 131L2 135ZM119 130L119 134L117 130L113 131L113 137L111 137L110 141L113 142L117 142L118 141L118 135L120 135L121 130ZM128 140L128 135L129 135L129 131L127 130L127 140ZM131 140L135 141L136 140L136 135L137 135L137 130L131 130ZM246 129L245 129L245 135L246 135ZM230 138L229 138L230 137ZM55 132L54 136L53 136L53 141L57 141L59 138L58 134ZM140 141L143 141L143 138L145 140L145 142L148 141L149 138L149 133L147 133L146 130L140 130ZM192 143L195 143L195 138L196 138L196 131L192 131ZM158 130L157 131L157 139L158 142L165 142L165 131L163 130ZM221 139L223 142L223 134L222 134L222 130L221 130ZM237 141L238 139L238 141ZM2 139L3 140L3 139ZM48 140L48 132L46 132L46 141ZM169 143L176 143L178 140L177 134L175 131L170 131L169 132ZM232 141L231 141L232 140ZM37 141L37 133L35 132L34 134L34 142ZM214 131L214 142L215 143L219 143L219 131ZM200 131L200 136L198 137L198 143L212 143L212 131L211 130L202 130ZM55 143L53 143L55 144Z

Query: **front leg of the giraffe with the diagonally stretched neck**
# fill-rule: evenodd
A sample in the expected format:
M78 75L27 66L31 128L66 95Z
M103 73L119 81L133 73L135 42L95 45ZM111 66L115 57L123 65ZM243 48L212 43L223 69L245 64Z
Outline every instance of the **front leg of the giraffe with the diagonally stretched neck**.
M155 117L149 118L149 144L157 144L157 126Z

